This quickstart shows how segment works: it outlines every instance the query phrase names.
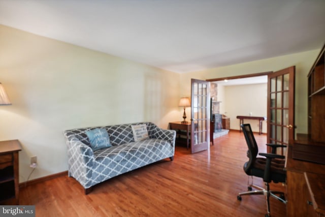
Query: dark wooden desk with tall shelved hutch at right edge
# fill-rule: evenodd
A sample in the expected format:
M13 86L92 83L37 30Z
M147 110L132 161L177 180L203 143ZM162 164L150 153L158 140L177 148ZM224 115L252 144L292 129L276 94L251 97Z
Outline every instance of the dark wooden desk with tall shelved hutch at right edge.
M308 134L287 150L287 216L325 216L324 48L308 74Z

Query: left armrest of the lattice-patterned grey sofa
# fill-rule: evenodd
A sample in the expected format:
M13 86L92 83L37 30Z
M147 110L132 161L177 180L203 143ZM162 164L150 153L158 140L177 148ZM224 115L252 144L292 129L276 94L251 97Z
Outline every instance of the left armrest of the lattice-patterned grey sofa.
M92 177L93 150L76 136L65 136L68 147L69 176L73 176L83 187L87 188Z

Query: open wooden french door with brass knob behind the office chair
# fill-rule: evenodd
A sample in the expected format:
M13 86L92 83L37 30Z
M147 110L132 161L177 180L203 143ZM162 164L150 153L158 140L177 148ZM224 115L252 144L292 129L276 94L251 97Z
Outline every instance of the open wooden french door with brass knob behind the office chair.
M268 143L295 139L295 66L268 74ZM284 155L286 148L277 148ZM270 152L270 149L268 149Z

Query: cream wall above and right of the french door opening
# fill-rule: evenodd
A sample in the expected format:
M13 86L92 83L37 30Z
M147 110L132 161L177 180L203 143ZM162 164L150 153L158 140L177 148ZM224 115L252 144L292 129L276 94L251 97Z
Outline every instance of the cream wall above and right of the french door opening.
M231 66L207 69L199 72L181 74L181 94L190 91L190 79L201 80L231 77L237 75L254 74L268 71L278 71L296 66L296 98L295 98L295 125L296 133L307 133L307 74L313 65L320 48L306 52L290 55L278 56L273 58L250 61L247 63ZM237 96L233 96L238 99ZM228 99L225 99L228 101Z

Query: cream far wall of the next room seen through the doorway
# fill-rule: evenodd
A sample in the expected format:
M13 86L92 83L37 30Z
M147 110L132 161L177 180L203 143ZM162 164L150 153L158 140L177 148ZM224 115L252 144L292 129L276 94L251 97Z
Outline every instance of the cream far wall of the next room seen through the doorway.
M239 130L239 119L237 115L249 116L267 116L267 91L268 86L264 84L250 85L232 85L225 86L225 111L230 117L230 129ZM236 96L236 97L234 97ZM258 120L246 120L245 123L250 123L254 132L259 132ZM262 122L263 133L267 132L266 121Z

